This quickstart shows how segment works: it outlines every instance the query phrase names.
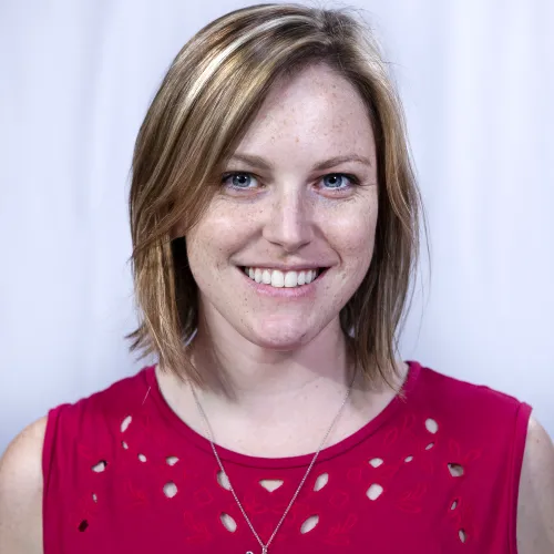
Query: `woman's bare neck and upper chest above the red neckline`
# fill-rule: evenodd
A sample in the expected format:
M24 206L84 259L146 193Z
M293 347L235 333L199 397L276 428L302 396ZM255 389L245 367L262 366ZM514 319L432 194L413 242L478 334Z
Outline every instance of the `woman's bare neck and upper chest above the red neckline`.
M339 321L293 351L263 349L242 336L216 334L214 326L207 331L198 326L189 348L193 363L206 377L206 384L195 391L216 442L269 458L315 452L353 377ZM158 372L157 378L172 409L204 434L205 422L189 384L170 372ZM389 389L370 389L357 371L345 413L328 444L366 424L393 394ZM299 423L309 432L296 432Z

